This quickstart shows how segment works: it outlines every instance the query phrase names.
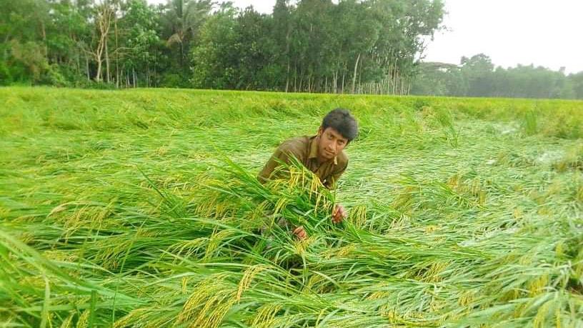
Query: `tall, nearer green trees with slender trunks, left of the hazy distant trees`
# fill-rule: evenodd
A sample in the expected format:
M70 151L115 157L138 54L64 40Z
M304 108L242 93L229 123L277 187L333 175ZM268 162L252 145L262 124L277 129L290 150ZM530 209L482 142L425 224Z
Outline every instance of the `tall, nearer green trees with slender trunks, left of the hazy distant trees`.
M408 94L442 0L0 0L0 83Z

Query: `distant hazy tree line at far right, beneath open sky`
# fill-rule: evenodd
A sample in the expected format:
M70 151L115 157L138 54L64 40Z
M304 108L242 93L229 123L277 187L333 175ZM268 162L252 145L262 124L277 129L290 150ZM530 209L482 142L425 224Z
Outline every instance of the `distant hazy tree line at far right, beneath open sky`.
M459 66L424 63L412 94L507 98L583 99L583 71L565 75L544 67L497 67L488 56L463 57Z

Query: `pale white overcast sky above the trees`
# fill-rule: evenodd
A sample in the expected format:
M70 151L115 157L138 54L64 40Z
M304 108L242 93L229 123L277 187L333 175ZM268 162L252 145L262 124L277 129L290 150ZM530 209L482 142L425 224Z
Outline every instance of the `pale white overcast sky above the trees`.
M164 0L149 0L152 3ZM583 0L444 0L447 31L429 41L425 61L459 64L484 53L494 65L534 64L583 71ZM270 13L275 0L234 0Z

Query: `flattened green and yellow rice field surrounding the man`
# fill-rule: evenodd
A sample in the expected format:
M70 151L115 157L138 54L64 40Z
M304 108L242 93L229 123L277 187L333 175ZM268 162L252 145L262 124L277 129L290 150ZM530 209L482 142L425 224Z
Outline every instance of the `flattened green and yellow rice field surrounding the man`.
M338 106L337 191L256 181ZM583 101L1 88L0 327L583 327L582 126Z

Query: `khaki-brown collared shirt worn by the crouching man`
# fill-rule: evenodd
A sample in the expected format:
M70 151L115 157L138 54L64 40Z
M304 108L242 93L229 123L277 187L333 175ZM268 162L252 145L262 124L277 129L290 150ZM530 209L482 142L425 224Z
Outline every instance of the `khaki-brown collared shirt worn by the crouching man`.
M304 167L319 177L324 187L332 189L335 187L339 177L348 167L348 156L344 150L329 161L318 164L318 136L302 136L284 141L274 154L271 155L265 167L259 172L260 182L266 182L271 177L274 169L279 165L279 161L289 164L291 156L295 156ZM278 161L279 160L279 161Z

